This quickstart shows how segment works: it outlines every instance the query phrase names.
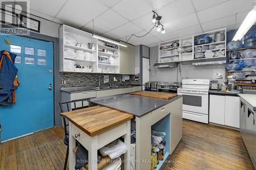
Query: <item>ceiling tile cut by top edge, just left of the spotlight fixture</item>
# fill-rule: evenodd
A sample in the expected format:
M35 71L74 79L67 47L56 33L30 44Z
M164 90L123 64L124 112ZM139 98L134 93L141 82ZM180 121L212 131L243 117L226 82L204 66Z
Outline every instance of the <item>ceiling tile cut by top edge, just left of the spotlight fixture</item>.
M148 0L123 0L112 9L129 20L136 19L153 10L151 1Z

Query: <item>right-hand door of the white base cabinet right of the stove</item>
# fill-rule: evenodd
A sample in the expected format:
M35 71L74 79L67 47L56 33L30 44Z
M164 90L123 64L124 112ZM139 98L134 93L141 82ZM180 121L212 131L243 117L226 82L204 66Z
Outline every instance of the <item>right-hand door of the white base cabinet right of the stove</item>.
M237 96L225 96L225 125L239 128L240 100Z

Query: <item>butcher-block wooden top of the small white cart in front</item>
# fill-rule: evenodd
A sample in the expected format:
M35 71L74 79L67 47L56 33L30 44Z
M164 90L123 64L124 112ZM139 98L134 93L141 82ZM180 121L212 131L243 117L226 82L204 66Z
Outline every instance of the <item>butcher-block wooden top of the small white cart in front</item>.
M133 118L131 114L103 106L64 112L60 113L60 115L67 118L89 136L95 136Z

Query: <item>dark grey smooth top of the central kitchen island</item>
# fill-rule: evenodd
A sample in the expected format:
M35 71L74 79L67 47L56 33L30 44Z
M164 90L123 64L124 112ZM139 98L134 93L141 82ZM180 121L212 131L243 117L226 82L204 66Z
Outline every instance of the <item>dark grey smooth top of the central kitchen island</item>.
M182 95L178 95L170 100L163 100L132 94L119 94L92 99L91 102L140 117L181 97Z

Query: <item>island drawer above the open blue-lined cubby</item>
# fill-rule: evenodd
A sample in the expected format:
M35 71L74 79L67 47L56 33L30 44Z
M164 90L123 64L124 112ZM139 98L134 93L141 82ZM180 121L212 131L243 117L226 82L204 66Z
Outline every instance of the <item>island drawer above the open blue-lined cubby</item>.
M168 115L170 113L170 104L164 105L157 110L154 110L151 112L152 116L152 123L151 125L154 125L157 123L159 120L161 120L163 117Z

